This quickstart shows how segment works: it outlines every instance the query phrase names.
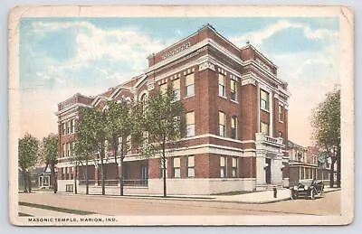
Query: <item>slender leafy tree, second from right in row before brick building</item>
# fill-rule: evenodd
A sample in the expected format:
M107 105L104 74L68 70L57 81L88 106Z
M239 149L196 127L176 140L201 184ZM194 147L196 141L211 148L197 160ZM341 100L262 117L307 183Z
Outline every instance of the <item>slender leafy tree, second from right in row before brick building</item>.
M131 147L131 136L138 132L137 125L137 103L123 99L120 102L110 100L107 103L107 130L110 145L113 150L114 162L116 164L117 179L119 180L119 195L123 195L123 160ZM135 143L134 138L134 143ZM119 156L119 165L117 157Z

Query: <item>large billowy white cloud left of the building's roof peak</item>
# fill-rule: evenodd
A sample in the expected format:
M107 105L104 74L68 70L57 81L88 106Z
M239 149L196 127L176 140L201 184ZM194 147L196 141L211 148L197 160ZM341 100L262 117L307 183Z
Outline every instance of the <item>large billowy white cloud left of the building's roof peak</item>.
M113 86L146 70L148 55L170 43L170 39L161 42L136 27L101 29L88 22L33 23L33 32L43 36L71 28L76 32L74 57L67 61L50 62L37 72L40 79L52 77L63 83L71 81L71 76L79 76L81 70L94 70L92 75L100 75L94 79L109 80L110 86ZM49 60L52 61L51 58ZM109 64L104 65L107 62Z

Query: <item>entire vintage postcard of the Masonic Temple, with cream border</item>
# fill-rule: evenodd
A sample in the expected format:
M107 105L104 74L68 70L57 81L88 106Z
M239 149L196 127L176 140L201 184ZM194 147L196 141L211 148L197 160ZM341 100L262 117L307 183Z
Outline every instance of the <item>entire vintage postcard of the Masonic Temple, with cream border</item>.
M20 226L346 225L346 6L21 6L9 13Z

